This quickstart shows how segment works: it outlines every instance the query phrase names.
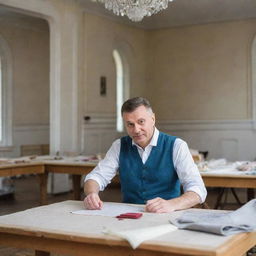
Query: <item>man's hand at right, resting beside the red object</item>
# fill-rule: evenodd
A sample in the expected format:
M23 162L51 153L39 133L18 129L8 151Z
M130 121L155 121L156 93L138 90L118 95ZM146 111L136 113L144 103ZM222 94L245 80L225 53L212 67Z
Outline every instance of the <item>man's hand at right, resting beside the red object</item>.
M171 200L164 200L157 197L147 201L145 210L147 212L165 213L173 212L175 208L173 207Z

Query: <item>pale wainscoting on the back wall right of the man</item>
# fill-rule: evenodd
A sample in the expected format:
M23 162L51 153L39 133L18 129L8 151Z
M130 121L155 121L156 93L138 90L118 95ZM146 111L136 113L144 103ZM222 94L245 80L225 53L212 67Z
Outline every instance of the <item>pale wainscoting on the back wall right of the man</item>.
M184 139L190 148L209 151L208 159L230 161L256 158L256 130L253 121L158 122L158 127Z

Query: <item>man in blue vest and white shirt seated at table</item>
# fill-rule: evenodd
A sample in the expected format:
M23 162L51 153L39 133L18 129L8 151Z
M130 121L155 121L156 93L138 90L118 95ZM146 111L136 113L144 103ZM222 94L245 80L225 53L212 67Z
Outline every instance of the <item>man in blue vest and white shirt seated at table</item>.
M145 204L148 212L172 212L203 203L206 189L186 142L158 131L148 100L129 99L121 113L129 136L114 141L106 157L86 176L85 207L102 208L99 191L117 170L123 202Z

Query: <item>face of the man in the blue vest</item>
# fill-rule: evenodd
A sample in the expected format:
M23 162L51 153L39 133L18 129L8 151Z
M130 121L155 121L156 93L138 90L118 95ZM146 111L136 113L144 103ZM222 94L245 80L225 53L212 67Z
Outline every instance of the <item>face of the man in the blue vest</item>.
M123 120L128 135L133 141L145 148L154 133L155 115L145 106L139 106L133 112L124 112Z

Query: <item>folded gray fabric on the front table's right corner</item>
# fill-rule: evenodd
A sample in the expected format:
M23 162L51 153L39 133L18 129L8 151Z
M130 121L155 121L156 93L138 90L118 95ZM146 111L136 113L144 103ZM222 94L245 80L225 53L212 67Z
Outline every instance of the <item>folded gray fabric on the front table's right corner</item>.
M233 212L188 210L181 217L170 222L180 229L225 236L256 231L256 199Z

